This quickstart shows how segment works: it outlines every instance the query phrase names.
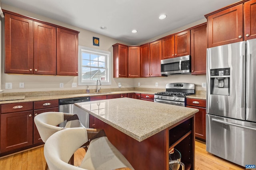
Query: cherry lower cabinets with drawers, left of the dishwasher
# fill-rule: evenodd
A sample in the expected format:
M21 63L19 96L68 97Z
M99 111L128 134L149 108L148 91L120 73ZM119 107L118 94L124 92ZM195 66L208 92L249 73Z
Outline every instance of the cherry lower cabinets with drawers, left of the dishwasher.
M46 109L34 110L33 108L37 107L33 107L33 103L36 106L37 102L1 105L0 156L42 143L34 124L34 116L45 111L58 111L58 100L40 102L47 103L47 106L44 106Z

